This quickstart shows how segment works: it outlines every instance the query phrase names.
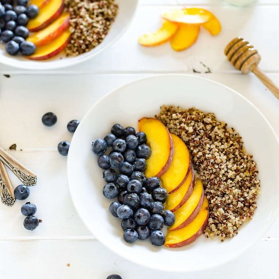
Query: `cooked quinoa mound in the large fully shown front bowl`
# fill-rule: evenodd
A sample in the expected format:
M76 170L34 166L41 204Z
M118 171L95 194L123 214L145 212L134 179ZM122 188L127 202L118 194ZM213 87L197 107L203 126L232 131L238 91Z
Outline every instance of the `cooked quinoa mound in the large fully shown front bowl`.
M210 204L206 237L233 237L252 219L260 191L253 156L245 152L241 136L213 113L195 108L163 106L156 116L190 150L194 169Z

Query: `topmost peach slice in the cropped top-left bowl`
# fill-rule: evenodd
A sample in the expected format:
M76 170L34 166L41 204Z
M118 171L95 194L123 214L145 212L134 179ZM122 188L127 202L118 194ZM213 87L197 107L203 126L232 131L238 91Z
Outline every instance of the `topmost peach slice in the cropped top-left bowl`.
M56 20L63 13L63 10L63 0L50 0L45 7L40 9L37 17L28 22L27 28L31 32L40 31Z

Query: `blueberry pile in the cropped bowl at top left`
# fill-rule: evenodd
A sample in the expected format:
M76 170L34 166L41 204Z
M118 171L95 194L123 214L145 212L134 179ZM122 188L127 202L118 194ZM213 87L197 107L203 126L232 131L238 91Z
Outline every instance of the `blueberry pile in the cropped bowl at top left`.
M25 41L29 36L26 25L30 18L37 17L39 9L27 5L28 0L0 1L0 41L6 43L10 55L32 55L36 51L33 43Z

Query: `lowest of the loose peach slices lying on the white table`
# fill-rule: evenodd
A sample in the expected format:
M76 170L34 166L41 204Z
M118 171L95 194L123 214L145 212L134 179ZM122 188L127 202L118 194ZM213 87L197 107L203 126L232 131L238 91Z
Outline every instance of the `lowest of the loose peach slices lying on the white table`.
M182 24L170 41L172 49L182 51L191 47L197 41L198 34L199 25Z

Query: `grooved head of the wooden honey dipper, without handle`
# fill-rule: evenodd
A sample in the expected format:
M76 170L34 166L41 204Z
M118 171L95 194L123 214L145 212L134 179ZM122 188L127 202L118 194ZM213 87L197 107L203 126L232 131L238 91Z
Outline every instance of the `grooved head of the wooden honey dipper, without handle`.
M243 74L248 74L260 63L261 56L248 41L237 37L228 43L225 55L232 65Z

